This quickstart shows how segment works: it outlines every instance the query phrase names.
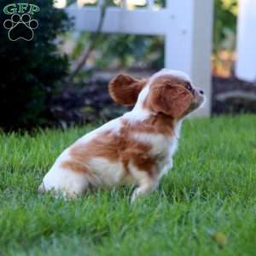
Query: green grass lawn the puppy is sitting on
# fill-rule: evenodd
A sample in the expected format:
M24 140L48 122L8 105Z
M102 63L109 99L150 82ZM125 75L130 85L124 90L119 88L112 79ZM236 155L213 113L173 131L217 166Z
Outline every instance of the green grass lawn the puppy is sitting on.
M256 255L256 116L187 120L172 172L135 205L129 187L38 195L92 128L0 134L0 255Z

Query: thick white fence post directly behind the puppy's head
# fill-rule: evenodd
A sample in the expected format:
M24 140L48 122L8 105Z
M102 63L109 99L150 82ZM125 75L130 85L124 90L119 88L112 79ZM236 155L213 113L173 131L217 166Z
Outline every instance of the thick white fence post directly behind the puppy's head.
M188 73L206 93L207 103L196 115L211 113L212 0L166 0L165 66Z

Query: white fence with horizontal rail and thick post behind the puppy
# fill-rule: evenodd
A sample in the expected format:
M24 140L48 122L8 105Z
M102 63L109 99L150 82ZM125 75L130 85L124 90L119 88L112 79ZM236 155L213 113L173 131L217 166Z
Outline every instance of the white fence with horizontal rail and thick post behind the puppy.
M79 8L73 4L67 13L75 17L76 31L96 32L102 1L96 6ZM212 0L166 0L166 8L155 9L154 0L147 6L127 9L108 7L102 32L165 37L165 67L189 73L208 98L198 114L208 115L211 102Z

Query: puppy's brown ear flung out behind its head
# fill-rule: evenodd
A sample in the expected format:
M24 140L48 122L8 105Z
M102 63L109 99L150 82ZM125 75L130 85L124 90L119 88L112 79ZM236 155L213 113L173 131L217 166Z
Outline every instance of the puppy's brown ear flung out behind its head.
M146 79L134 79L128 74L120 73L109 82L109 95L114 102L122 105L134 105L146 83Z

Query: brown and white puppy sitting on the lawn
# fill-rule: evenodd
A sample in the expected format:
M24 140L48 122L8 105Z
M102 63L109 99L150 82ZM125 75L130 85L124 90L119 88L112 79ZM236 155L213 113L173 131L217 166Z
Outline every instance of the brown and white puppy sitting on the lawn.
M89 187L131 183L137 185L135 201L172 168L182 120L202 105L203 91L185 73L170 69L149 79L119 74L108 86L115 102L134 108L67 148L39 190L74 196Z

